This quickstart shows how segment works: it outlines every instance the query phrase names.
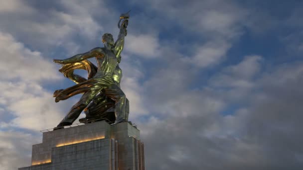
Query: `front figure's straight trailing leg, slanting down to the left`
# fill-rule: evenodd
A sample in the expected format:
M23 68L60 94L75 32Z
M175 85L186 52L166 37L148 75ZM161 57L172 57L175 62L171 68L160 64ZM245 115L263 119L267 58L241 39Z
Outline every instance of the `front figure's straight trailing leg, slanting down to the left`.
M68 114L62 119L57 127L71 125L79 117L82 110L92 101L92 99L98 94L99 90L85 92L81 99L73 105Z

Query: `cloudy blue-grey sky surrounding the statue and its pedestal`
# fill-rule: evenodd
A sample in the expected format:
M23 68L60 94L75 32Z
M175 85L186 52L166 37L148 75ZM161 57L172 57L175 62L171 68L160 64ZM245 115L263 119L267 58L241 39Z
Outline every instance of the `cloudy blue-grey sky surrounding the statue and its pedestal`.
M39 131L81 97L54 102L53 91L73 82L52 59L102 47L107 32L116 39L120 14L132 9L121 87L147 170L301 170L302 8L302 0L0 0L0 169L29 166Z

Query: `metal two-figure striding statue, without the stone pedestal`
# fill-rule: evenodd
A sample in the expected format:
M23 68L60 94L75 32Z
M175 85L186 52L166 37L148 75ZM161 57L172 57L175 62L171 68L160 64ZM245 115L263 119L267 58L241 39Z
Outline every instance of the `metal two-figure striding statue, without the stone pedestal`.
M65 60L53 60L55 63L62 64L59 71L77 84L66 89L56 90L54 92L55 102L83 93L81 99L72 106L54 130L71 125L83 110L86 113L85 120L89 120L105 117L108 108L114 108L115 123L128 121L129 102L120 88L122 71L119 68L124 38L127 35L128 19L129 12L120 16L118 23L120 32L115 43L112 34L105 33L102 36L104 47L96 47L89 52L77 54ZM96 58L97 67L86 60L92 57ZM73 70L75 69L87 70L88 79L74 75Z

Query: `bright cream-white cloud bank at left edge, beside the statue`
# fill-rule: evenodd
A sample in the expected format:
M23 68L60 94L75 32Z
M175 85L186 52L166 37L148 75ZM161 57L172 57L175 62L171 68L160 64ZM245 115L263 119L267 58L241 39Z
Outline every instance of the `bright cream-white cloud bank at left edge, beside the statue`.
M0 53L2 109L14 117L1 123L35 131L54 127L60 120L62 105L55 104L51 92L40 84L60 78L55 64L1 32Z

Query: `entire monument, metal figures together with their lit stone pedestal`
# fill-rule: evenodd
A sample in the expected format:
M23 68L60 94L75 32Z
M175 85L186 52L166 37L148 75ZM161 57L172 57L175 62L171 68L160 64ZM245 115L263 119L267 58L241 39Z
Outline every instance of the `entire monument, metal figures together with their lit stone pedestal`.
M118 39L102 36L104 47L55 59L66 78L76 85L54 92L55 101L82 94L57 127L42 130L42 143L32 146L31 166L18 170L145 170L144 143L135 124L128 121L129 101L120 88L119 67L129 12L120 16ZM97 66L88 59L95 57ZM83 78L75 70L86 70ZM71 125L84 111L85 123ZM106 119L105 119L106 118Z

